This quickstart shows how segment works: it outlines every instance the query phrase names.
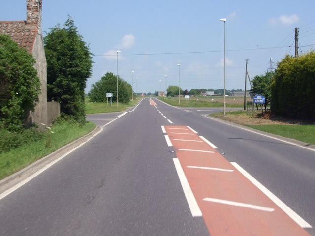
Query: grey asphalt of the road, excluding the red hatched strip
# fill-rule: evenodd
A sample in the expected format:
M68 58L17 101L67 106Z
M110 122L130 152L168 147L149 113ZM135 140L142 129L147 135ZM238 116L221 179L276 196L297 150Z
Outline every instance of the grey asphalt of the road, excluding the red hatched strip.
M158 109L144 99L127 113L89 115L98 135L0 199L0 235L209 235L161 130L172 125L194 129L315 226L314 150L204 116L217 109L154 101Z

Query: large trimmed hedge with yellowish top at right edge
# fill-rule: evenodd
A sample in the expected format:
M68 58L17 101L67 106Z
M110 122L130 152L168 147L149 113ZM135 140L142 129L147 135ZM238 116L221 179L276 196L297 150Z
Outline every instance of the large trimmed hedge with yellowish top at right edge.
M314 88L315 52L298 59L286 56L272 84L272 111L290 118L315 120Z

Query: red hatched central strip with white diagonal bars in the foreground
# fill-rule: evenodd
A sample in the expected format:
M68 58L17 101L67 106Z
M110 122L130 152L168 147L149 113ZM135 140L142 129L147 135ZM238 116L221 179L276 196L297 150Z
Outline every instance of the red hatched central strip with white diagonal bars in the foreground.
M309 235L198 134L164 129L212 236Z

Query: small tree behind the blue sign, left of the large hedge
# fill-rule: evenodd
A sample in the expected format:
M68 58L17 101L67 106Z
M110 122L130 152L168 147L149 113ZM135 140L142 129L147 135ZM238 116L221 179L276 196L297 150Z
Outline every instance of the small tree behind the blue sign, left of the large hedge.
M256 75L252 79L252 89L251 92L253 94L261 94L265 96L265 111L267 109L267 106L271 102L271 83L273 81L273 77L275 75L275 72L270 71L266 72L265 75Z

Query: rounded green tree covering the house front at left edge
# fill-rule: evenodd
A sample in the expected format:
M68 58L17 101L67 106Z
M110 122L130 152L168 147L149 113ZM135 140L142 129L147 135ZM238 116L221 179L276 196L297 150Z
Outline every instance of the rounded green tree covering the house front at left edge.
M0 35L0 125L9 130L21 129L38 101L40 80L34 64L25 48Z

